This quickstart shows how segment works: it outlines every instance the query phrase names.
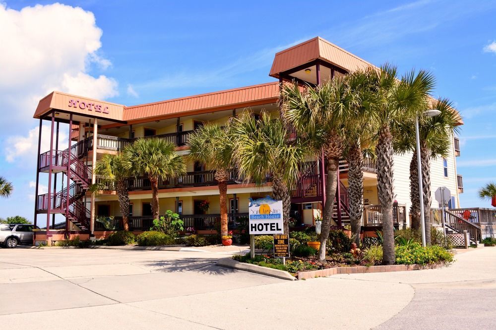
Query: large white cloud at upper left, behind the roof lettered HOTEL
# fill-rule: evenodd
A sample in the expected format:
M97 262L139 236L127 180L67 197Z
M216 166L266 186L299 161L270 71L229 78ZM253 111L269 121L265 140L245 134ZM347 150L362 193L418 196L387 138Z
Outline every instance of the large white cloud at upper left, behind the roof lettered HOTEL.
M14 10L0 2L0 31L8 50L0 52L0 112L8 118L0 121L0 140L7 161L36 154L38 128L30 118L53 90L95 99L118 95L115 79L89 74L95 65L112 65L98 53L102 30L92 12L61 3Z

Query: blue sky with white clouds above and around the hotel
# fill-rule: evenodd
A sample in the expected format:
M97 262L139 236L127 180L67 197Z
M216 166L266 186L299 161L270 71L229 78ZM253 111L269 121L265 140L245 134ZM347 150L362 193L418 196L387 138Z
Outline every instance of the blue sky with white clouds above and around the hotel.
M461 204L489 206L476 193L495 179L496 1L52 3L0 4L15 22L0 34L11 45L0 55L0 72L11 74L0 74L0 175L15 186L0 200L0 217L33 217L31 117L50 88L134 105L269 82L274 53L315 36L376 65L431 70L436 96L452 100L465 120Z

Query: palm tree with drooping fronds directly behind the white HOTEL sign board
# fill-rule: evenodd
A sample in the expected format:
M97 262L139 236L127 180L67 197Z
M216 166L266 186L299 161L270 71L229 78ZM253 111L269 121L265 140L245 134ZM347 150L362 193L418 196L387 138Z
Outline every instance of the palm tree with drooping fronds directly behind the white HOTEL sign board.
M235 142L235 161L247 182L263 184L272 177L272 195L283 202L284 232L289 233L290 187L300 175L300 166L309 156L308 148L295 141L280 118L262 111L260 119L246 112L231 119Z

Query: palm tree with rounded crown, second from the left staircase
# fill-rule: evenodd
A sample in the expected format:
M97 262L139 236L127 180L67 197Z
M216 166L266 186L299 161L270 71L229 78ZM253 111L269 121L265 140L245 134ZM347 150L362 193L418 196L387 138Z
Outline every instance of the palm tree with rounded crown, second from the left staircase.
M124 149L124 167L135 175L146 175L152 187L152 215L159 218L158 181L186 174L183 157L175 145L160 138L140 138Z

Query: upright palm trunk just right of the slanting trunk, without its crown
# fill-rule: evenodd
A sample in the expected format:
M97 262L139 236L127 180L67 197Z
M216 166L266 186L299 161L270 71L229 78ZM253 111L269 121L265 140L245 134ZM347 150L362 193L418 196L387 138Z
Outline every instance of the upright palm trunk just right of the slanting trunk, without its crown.
M364 156L358 142L353 142L347 158L351 233L353 240L359 245L364 214Z

